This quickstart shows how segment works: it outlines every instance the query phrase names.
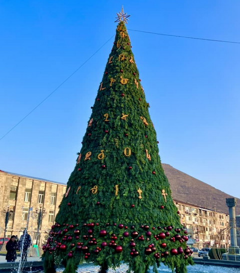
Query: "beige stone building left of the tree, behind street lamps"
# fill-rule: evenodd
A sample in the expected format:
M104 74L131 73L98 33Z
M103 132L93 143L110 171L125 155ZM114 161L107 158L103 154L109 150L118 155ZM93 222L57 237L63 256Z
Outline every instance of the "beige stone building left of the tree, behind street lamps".
M65 184L0 171L0 237L5 229L5 237L19 237L27 228L36 242L38 229L38 245L41 245L54 223L65 190ZM7 208L9 217L5 228Z

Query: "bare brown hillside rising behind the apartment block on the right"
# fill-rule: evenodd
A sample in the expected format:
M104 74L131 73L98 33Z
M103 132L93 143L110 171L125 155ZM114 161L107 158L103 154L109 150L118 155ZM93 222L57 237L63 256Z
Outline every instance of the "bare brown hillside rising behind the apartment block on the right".
M162 167L170 183L173 199L210 209L216 207L216 210L228 213L225 198L234 196L175 169L169 164L162 163ZM236 199L236 215L238 215L240 214L240 199Z

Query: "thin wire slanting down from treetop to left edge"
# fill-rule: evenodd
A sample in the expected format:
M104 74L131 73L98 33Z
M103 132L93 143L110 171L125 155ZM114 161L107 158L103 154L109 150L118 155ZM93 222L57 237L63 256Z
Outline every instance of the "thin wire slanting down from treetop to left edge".
M115 35L115 34L114 34ZM5 137L11 130L21 123L29 114L31 114L37 107L39 107L50 95L52 95L61 85L63 85L72 75L74 75L90 58L92 58L114 35L112 35L106 42L104 42L90 57L88 57L74 72L72 72L66 79L64 79L52 92L50 92L41 102L39 102L33 109L31 109L21 120L19 120L13 127L11 127L0 140Z

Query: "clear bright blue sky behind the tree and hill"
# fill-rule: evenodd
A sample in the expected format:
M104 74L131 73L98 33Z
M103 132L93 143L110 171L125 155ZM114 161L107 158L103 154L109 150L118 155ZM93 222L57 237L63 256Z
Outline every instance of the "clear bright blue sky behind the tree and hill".
M240 41L239 0L0 1L0 137L115 33L122 4L130 29ZM128 33L162 162L240 197L240 44ZM0 140L0 169L67 182L112 42Z

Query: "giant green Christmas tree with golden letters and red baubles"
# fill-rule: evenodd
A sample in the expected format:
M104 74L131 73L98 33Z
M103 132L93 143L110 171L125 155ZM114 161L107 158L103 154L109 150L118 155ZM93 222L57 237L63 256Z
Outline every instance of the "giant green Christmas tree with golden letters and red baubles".
M123 9L76 165L55 224L43 245L44 270L74 273L84 261L100 271L128 263L129 272L175 272L192 264L158 155Z

